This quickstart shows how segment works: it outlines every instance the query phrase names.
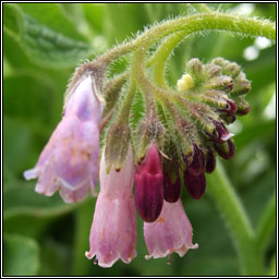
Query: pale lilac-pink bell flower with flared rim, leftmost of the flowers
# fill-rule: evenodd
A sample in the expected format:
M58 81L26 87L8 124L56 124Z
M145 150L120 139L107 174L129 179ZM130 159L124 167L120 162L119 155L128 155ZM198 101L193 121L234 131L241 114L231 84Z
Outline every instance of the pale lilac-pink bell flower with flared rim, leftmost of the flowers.
M95 193L102 105L93 88L90 76L77 85L35 168L24 172L27 180L38 178L39 194L51 196L59 190L65 203L74 203L89 189Z

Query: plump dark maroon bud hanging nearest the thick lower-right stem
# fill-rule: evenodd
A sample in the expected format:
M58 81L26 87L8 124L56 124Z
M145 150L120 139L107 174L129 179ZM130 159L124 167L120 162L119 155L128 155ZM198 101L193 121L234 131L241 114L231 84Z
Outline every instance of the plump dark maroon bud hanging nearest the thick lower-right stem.
M199 175L193 175L187 170L184 172L184 184L189 194L195 198L199 199L204 193L206 187L206 179L205 174L201 173Z

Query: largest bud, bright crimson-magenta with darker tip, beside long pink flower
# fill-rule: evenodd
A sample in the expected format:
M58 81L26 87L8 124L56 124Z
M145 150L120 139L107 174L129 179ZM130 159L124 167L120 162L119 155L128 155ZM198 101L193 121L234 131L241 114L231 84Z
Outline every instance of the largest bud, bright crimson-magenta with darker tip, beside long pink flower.
M151 145L142 165L135 170L135 205L146 222L155 221L163 202L163 174L161 158L155 144Z

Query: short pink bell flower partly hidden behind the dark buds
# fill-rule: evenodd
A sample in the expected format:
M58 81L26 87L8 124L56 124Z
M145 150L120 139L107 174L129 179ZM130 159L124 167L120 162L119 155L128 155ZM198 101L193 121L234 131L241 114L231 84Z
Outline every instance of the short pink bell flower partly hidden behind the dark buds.
M163 202L157 220L144 222L144 236L149 253L146 259L166 257L174 252L184 256L190 248L198 247L192 243L192 226L181 201Z

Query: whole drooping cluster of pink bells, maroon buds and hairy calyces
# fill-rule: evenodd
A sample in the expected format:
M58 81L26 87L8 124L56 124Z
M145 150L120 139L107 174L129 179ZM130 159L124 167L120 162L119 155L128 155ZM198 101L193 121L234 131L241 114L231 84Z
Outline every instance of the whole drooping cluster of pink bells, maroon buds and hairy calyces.
M146 97L145 117L134 126L129 121L133 86L122 107L109 99L112 94L117 102L124 76L108 83L107 92L104 86L104 102L95 75L83 73L37 165L24 172L26 179L38 178L38 193L50 196L60 191L66 203L82 201L89 189L95 194L99 175L86 256L101 267L136 256L136 211L144 221L147 259L183 256L198 246L192 243L192 226L182 206L181 178L189 194L199 199L216 154L225 159L234 155L226 124L250 111L243 95L251 85L236 63L221 58L208 64L192 59L185 71L171 101L159 105ZM109 121L113 112L117 117ZM106 124L99 168L99 135Z

